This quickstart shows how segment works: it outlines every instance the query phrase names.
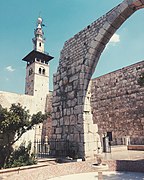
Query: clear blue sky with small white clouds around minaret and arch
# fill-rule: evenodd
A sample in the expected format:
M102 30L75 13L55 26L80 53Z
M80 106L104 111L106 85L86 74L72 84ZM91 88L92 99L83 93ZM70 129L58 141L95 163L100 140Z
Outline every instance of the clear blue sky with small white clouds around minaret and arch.
M0 6L0 90L24 93L25 62L33 48L36 20L41 12L46 27L45 50L50 63L50 89L60 51L66 40L91 24L122 0L5 0ZM133 14L104 50L93 77L144 59L144 10Z

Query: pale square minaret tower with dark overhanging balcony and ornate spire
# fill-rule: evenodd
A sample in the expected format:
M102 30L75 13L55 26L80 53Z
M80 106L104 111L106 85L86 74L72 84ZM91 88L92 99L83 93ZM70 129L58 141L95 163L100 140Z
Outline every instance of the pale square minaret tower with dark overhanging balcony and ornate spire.
M49 93L48 62L53 57L44 51L45 38L42 27L43 20L39 17L32 39L34 50L24 57L23 61L27 62L25 94L35 96L38 102L44 103Z

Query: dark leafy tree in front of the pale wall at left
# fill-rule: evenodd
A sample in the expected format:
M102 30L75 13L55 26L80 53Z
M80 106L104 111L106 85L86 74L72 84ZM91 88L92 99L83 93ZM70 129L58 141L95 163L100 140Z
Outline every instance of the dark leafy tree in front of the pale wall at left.
M0 105L0 168L8 162L13 144L34 125L42 123L48 114L38 112L30 116L26 107L12 104L9 111Z

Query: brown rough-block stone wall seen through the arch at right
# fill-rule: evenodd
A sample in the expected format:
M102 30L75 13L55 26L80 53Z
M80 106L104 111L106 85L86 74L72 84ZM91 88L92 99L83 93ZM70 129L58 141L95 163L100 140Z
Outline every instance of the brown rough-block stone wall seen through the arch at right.
M144 144L144 61L92 80L91 106L99 133L112 132L113 144Z

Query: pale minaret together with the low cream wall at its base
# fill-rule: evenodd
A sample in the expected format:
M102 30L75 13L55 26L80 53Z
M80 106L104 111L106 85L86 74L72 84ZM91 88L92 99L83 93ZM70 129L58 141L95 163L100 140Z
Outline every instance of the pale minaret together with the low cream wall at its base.
M10 108L11 104L20 103L29 110L31 115L39 111L42 113L48 111L47 107L51 98L51 93L49 92L49 61L53 57L45 52L45 37L41 17L37 19L32 41L34 45L33 50L22 59L27 62L25 94L0 91L0 104L2 107ZM23 141L34 142L41 139L41 137L42 124L23 134L18 144Z

